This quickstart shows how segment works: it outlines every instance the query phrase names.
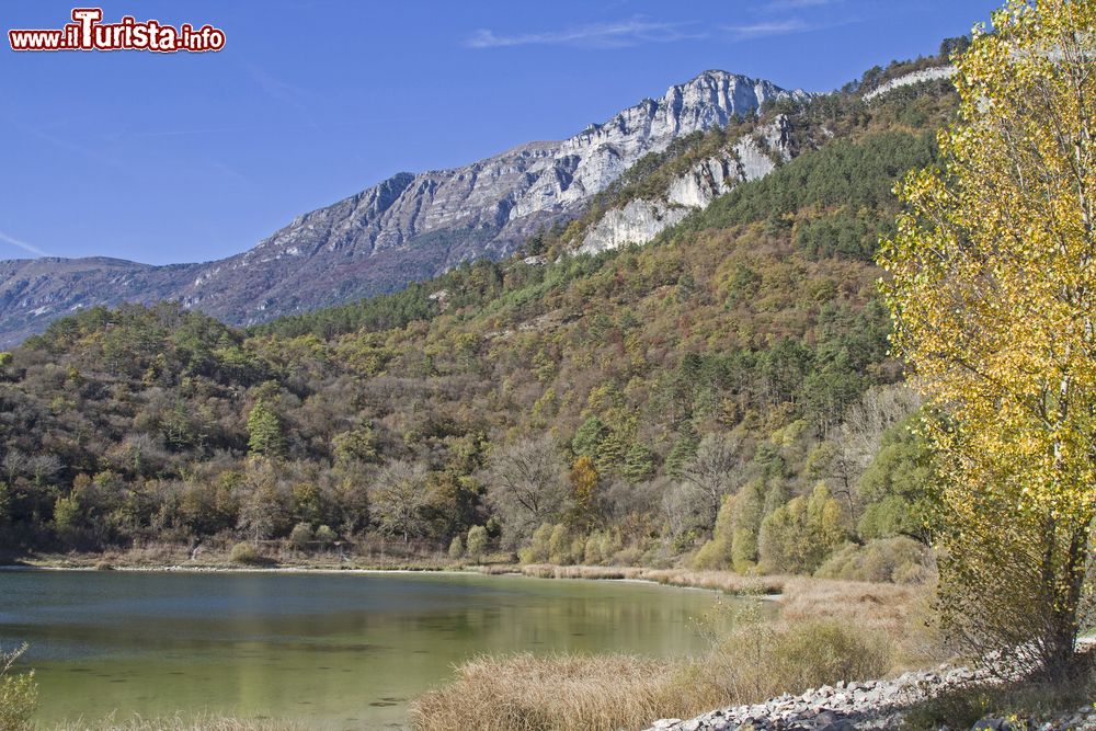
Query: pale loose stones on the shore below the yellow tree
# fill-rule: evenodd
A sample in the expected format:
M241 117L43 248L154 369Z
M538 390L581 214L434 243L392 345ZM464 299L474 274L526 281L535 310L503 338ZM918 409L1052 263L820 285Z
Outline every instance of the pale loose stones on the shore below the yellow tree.
M648 731L859 731L901 729L905 713L948 690L986 683L984 673L943 666L888 681L837 683L762 704L720 708L693 719L660 719ZM946 727L945 727L946 728ZM1096 730L1096 709L1085 706L1055 718L985 718L973 729L994 731Z

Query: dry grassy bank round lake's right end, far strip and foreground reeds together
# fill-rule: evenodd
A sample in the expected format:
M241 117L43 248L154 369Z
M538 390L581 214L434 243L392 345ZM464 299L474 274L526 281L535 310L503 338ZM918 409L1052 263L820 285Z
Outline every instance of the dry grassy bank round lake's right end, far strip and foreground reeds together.
M871 679L943 659L925 623L926 587L715 571L530 566L522 573L778 593L781 610L763 620L764 613L756 609L717 605L698 624L710 644L696 658L476 658L459 666L448 685L412 706L415 729L643 728L660 717L688 718L717 706L757 703L842 679Z

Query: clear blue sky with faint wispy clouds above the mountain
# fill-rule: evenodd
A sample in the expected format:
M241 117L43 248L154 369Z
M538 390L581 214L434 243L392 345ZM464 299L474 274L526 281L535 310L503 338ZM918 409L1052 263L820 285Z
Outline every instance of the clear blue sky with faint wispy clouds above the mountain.
M89 3L90 4L90 3ZM559 139L720 68L827 91L936 52L1000 0L104 0L216 54L24 53L71 2L5 0L0 259L243 251L399 171Z

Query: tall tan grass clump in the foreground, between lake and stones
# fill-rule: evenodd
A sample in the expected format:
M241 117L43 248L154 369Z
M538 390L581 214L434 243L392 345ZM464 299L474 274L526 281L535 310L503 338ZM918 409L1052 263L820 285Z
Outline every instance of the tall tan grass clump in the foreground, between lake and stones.
M710 650L697 658L476 658L412 705L412 723L418 731L646 728L658 718L871 679L891 667L893 644L882 631L847 619L769 621L757 603L728 607L698 621Z

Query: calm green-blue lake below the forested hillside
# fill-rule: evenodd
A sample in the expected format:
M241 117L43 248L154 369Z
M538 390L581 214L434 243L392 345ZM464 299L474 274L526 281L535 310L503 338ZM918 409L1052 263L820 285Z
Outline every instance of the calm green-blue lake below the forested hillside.
M31 646L38 720L193 713L403 728L481 652L703 649L716 594L420 573L0 572L0 647Z

